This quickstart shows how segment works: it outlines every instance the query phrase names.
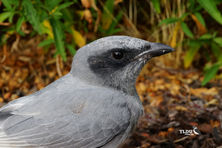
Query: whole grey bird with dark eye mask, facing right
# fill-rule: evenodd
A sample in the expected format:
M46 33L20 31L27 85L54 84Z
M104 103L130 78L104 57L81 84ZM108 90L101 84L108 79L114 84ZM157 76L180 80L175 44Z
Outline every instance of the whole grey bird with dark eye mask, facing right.
M87 44L67 75L0 109L0 148L121 146L143 114L135 89L139 72L171 51L128 36Z

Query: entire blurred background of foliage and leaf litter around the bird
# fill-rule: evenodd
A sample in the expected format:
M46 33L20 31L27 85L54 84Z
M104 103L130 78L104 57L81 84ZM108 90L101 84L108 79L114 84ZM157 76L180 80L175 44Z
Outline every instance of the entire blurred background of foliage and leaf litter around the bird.
M124 147L222 145L222 0L0 0L0 104L67 74L80 47L109 35L176 49L138 77L145 115Z

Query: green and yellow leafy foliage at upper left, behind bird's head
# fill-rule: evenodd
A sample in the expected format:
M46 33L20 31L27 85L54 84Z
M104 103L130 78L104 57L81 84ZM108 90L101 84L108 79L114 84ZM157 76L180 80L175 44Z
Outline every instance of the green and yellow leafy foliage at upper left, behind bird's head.
M85 25L87 21L91 23L91 10L80 10L78 8L81 3L77 0L1 0L4 8L0 14L0 23L9 22L9 27L1 30L1 45L7 42L8 34L18 33L20 36L27 34L22 31L21 27L24 23L31 24L32 35L46 35L39 46L49 47L55 44L56 55L61 55L66 61L66 49L75 54L75 47L85 45L85 38L77 31L88 31ZM107 0L102 13L102 24L99 25L99 33L102 35L114 34L120 29L116 29L118 21L121 19L121 11L117 18L113 20L114 0ZM88 13L87 13L88 12ZM85 16L88 15L88 16ZM83 17L88 17L83 20ZM98 17L96 15L96 17ZM70 34L72 41L67 42L65 36Z

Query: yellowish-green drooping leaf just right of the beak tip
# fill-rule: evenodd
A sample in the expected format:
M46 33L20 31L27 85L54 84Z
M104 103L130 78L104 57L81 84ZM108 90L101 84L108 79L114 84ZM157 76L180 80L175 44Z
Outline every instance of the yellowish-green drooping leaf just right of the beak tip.
M185 68L188 68L190 66L190 64L192 63L194 56L196 55L197 51L201 47L201 43L194 40L194 41L188 42L188 45L189 45L189 49L186 52L186 55L184 57L184 67Z

